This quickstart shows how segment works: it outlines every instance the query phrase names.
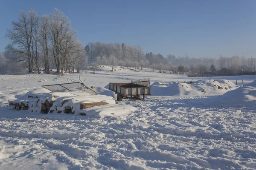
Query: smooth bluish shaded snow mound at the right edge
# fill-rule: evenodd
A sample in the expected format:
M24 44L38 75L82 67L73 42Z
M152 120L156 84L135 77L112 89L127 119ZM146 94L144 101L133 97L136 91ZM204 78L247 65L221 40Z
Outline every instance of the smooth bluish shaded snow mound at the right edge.
M256 80L244 87L237 88L233 91L228 91L222 96L207 102L209 105L218 106L252 106L256 105Z

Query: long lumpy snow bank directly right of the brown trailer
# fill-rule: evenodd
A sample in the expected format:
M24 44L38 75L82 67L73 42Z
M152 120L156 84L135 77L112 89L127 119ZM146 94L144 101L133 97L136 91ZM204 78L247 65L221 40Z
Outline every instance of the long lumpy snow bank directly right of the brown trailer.
M154 82L151 86L152 96L211 96L224 94L238 88L228 80L198 80L194 83L170 83L167 86Z

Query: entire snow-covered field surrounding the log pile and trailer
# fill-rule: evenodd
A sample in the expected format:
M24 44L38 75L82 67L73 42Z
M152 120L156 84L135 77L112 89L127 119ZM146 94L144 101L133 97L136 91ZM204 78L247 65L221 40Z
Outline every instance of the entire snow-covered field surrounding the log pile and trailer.
M197 77L187 84L192 79L185 75L107 69L63 76L0 75L0 169L256 168L254 75ZM126 116L16 111L5 102L41 85L78 81L113 96L104 90L109 82L143 77L151 79L152 95L119 102L137 108ZM248 86L239 87L242 80Z

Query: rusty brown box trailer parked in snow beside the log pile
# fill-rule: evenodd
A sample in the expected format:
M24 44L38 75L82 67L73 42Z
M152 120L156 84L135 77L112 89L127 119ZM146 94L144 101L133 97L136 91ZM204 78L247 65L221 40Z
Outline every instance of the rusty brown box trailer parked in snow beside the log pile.
M117 94L118 101L122 101L123 98L130 98L131 100L144 100L145 95L151 95L150 87L127 82L110 82L109 90ZM140 96L143 96L143 98Z

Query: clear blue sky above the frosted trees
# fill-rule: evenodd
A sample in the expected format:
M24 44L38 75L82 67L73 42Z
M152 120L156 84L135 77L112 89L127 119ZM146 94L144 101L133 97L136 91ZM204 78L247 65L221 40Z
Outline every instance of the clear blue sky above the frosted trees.
M164 56L256 55L256 0L0 0L0 51L20 10L41 15L54 7L84 46L124 42Z

